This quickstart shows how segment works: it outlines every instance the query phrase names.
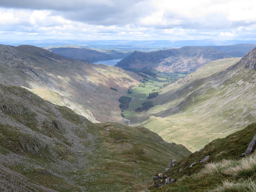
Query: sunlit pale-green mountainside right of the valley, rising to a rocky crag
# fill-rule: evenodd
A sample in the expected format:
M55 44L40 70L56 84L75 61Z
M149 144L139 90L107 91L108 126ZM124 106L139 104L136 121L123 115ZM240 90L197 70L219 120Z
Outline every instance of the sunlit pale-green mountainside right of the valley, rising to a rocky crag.
M150 99L155 107L146 115L150 118L140 125L167 141L182 143L196 151L213 139L255 122L255 57L256 48L239 62L238 59L218 60L198 69L213 71L219 63L224 68L220 72L210 72L209 76L198 71L167 86Z

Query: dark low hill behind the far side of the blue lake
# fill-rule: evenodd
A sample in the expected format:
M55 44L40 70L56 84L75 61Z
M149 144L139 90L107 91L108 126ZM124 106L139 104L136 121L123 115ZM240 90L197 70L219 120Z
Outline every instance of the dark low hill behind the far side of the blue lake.
M96 51L86 48L73 48L73 47L59 47L47 49L58 55L78 59L85 62L96 62L103 60L123 59L131 53L123 53L115 50Z

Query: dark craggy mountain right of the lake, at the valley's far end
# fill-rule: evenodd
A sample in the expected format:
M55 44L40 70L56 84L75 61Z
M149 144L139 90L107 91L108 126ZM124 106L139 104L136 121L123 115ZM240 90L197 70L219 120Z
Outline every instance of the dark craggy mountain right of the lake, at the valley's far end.
M150 68L164 72L193 72L198 67L218 59L230 56L213 48L185 46L179 49L160 50L156 52L133 52L119 61L115 66L122 69Z

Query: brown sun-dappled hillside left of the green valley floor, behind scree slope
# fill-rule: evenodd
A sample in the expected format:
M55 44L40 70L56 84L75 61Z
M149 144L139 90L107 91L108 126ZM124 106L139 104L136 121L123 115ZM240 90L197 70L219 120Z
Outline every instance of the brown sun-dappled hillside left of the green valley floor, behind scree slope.
M31 45L0 45L0 75L0 83L26 87L94 122L122 122L118 99L130 85L139 84L132 72L69 59Z

